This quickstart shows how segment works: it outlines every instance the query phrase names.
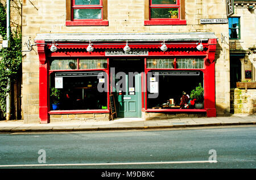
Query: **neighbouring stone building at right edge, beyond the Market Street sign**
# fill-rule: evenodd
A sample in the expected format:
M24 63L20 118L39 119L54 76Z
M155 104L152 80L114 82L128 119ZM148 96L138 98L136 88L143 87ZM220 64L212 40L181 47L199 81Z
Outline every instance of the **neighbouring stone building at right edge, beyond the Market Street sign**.
M256 1L234 0L234 14L230 17L238 19L237 27L240 33L237 38L229 39L230 112L234 114L256 112L255 3ZM240 84L243 86L237 86L237 82L242 82Z

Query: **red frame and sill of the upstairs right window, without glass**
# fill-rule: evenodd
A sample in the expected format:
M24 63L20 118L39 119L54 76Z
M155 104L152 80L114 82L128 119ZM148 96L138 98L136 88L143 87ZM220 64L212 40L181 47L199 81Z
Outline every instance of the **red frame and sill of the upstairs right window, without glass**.
M151 18L151 9L154 8L177 8L179 11L178 18ZM176 5L160 4L153 5L152 0L149 0L148 5L148 20L144 20L144 25L185 25L187 22L181 19L181 3L176 0Z

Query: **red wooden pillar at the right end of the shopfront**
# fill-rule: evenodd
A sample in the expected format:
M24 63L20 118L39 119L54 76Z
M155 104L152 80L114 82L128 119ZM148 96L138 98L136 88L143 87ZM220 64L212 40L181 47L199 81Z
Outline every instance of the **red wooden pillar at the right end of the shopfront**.
M215 63L217 39L209 39L207 57L205 59L204 73L204 108L207 110L207 117L216 117L215 106Z

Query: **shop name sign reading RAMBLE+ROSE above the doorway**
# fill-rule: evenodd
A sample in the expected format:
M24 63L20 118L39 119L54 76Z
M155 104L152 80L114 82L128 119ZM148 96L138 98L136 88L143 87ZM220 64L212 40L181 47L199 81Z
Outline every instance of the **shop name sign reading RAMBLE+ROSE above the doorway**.
M123 51L123 49L106 49L105 56L147 56L147 49L131 49L129 52Z

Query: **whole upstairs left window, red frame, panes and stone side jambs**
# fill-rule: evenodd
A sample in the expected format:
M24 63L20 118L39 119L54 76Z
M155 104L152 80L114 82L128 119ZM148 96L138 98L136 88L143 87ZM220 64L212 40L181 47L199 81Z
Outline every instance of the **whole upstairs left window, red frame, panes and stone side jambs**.
M108 26L106 0L66 0L66 26Z

